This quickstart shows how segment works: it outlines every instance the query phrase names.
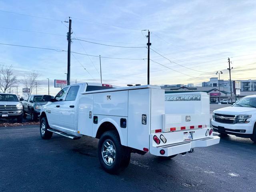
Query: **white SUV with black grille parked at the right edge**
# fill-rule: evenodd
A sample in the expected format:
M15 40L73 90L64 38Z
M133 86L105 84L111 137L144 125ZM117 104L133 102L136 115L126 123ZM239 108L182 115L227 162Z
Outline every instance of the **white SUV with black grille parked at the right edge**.
M256 95L246 96L230 107L214 110L212 128L222 135L232 134L256 142Z

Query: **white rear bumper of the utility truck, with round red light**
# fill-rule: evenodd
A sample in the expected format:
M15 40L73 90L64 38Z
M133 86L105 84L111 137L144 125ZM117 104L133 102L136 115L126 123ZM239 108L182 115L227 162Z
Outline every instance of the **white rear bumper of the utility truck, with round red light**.
M218 136L202 138L197 140L184 141L180 143L168 144L165 146L150 147L150 153L156 156L172 156L183 152L190 151L191 148L196 147L208 147L211 145L218 144L220 138ZM160 150L164 150L164 154L160 154Z

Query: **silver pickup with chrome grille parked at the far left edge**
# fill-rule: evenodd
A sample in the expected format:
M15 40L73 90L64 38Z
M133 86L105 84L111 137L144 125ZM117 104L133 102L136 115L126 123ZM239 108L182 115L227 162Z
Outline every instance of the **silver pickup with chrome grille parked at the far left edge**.
M0 116L5 119L17 118L17 122L22 122L23 110L15 94L0 94Z

